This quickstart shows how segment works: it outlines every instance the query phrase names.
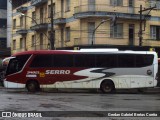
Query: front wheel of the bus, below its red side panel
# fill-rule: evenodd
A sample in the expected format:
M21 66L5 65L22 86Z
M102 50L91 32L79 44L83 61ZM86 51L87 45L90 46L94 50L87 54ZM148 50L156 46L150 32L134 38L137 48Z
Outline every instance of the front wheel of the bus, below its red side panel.
M38 92L39 91L39 84L36 81L29 81L26 84L26 88L28 92Z

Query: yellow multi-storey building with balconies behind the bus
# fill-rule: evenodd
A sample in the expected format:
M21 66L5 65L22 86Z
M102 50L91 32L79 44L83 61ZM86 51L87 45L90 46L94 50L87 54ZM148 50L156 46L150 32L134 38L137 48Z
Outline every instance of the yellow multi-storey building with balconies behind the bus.
M160 46L160 1L53 0L53 5L51 0L12 2L12 53L50 49L51 6L57 49L79 45L139 46L140 5L146 10L142 12L142 46Z

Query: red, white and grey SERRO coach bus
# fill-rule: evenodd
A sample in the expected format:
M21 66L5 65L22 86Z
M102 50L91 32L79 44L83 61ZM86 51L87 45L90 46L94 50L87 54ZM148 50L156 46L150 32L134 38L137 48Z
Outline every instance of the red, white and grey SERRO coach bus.
M5 73L6 88L116 89L157 85L158 58L151 51L39 50L12 56Z

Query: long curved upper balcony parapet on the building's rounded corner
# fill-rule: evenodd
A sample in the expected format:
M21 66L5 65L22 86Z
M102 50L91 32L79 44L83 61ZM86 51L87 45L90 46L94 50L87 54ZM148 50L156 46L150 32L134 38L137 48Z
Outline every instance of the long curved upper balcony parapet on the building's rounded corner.
M113 16L126 17L131 19L139 19L139 7L129 6L111 6L105 4L80 5L75 7L75 18L84 18L90 16Z

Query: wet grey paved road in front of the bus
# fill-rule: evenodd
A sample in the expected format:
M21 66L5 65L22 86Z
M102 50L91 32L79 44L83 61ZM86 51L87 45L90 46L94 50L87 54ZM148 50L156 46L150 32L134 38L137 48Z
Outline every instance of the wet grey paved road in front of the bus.
M0 111L160 111L160 93L28 93L0 89ZM8 118L10 120L10 118ZM14 119L14 118L13 118ZM15 118L17 120L18 118ZM27 118L26 118L27 119ZM36 119L36 118L34 118ZM127 120L129 118L42 118L46 120ZM146 118L135 118L146 119ZM134 120L135 120L134 119ZM158 118L147 118L157 119ZM39 120L39 118L37 118Z

